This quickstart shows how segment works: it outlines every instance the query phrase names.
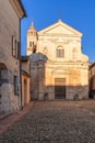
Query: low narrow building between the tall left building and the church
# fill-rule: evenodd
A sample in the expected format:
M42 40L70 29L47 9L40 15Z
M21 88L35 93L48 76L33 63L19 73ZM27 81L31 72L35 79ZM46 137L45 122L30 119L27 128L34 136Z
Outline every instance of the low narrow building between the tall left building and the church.
M29 56L22 56L22 107L31 101L31 62Z

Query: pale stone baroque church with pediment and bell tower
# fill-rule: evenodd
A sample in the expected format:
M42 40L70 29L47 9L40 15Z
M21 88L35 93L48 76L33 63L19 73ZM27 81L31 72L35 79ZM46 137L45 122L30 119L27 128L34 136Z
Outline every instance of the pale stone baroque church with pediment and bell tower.
M61 20L27 31L32 99L75 100L88 98L88 57L82 53L82 33Z

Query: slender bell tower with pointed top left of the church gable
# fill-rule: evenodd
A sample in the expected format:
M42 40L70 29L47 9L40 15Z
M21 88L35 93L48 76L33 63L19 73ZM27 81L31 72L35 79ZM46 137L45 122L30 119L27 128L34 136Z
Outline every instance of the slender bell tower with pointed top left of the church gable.
M37 51L37 31L35 30L33 23L27 31L27 55L36 53Z

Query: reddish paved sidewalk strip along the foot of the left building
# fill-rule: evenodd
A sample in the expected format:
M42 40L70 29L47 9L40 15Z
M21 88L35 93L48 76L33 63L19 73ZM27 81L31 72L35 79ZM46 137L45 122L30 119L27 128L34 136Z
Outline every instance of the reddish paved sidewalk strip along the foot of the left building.
M3 133L9 127L11 127L15 121L21 119L25 113L29 111L34 102L27 103L20 112L11 113L5 116L0 116L0 133Z

